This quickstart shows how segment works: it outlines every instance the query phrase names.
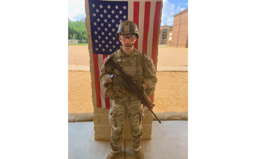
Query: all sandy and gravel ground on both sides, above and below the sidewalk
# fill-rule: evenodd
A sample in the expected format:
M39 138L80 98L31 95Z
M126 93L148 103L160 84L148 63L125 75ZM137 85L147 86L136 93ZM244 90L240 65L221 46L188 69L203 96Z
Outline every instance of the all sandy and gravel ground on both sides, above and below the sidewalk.
M158 66L187 66L187 48L158 47ZM88 46L68 46L69 65L89 65ZM188 73L157 72L153 111L188 111ZM68 72L68 113L93 112L90 72Z

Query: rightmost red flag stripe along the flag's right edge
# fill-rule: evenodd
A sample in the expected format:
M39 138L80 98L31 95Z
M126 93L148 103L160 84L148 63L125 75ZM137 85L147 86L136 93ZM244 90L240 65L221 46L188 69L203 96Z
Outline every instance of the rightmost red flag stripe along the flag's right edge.
M160 18L161 2L156 2L156 10L154 16L154 28L153 28L153 39L152 39L152 56L151 59L155 65L156 62L156 46L158 41L158 27Z

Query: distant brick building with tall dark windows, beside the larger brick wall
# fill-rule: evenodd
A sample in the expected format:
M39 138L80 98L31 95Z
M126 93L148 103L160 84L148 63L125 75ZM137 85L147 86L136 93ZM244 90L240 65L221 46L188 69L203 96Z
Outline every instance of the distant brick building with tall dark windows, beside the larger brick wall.
M159 45L170 45L170 33L172 33L172 26L164 25L160 27Z

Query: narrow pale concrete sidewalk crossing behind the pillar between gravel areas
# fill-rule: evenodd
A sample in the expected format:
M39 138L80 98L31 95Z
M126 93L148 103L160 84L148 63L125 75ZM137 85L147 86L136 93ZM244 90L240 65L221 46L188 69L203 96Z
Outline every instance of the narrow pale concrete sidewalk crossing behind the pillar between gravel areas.
M68 71L90 71L87 65L68 65ZM157 66L157 72L188 72L188 66Z

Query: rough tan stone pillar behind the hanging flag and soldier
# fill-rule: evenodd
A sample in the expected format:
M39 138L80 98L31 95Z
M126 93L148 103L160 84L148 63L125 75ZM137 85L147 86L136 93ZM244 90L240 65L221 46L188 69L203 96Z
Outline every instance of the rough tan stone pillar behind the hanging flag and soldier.
M161 10L162 10L163 3L161 2ZM159 27L158 32L160 32L160 23L161 23L161 10L160 10L160 20L159 20ZM98 108L96 105L96 92L95 92L95 75L94 75L94 63L93 63L93 50L92 50L92 38L91 38L91 26L90 26L90 17L89 14L89 2L85 0L85 12L86 12L86 19L85 19L85 26L87 29L87 37L88 37L88 49L89 49L89 56L90 56L90 73L91 73L91 88L92 88L92 100L93 100L93 122L94 122L94 139L95 140L110 140L111 135L111 125L109 124L108 114L109 109ZM159 39L159 34L158 37ZM158 47L156 50L156 57L158 55ZM155 63L157 64L157 58ZM156 67L155 64L155 67ZM145 110L145 117L142 121L142 128L143 134L142 139L151 139L151 130L152 130L152 114L148 110ZM131 127L126 116L125 125L123 128L123 139L131 139Z

